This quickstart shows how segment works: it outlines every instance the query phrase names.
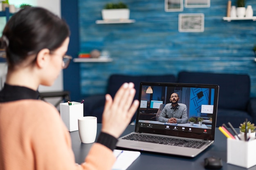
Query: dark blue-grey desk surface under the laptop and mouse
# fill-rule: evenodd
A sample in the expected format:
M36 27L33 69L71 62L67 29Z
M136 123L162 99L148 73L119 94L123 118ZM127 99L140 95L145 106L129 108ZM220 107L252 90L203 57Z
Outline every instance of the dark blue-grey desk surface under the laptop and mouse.
M98 124L97 135L99 135L100 129L101 124ZM129 125L123 135L134 131L134 129L135 125ZM82 144L78 131L70 132L70 135L72 138L72 149L75 154L76 163L82 163L92 144ZM141 152L138 159L136 159L127 170L205 170L204 158L210 156L216 156L222 159L222 170L246 169L227 163L227 138L220 132L220 130L218 130L218 128L216 128L215 142L213 145L195 158L183 158ZM256 166L253 166L248 170L256 170Z

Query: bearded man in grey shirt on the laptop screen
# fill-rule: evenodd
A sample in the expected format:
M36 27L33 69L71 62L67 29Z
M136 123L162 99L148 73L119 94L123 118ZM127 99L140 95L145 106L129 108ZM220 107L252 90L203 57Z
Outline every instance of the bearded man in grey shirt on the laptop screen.
M172 93L170 102L164 106L164 109L159 115L158 121L167 123L187 123L188 114L186 107L178 104L180 97L177 93Z

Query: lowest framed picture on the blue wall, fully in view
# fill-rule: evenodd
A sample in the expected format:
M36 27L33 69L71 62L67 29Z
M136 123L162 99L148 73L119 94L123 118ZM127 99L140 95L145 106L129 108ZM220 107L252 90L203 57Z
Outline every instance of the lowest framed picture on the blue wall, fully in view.
M179 32L204 32L204 14L180 13Z

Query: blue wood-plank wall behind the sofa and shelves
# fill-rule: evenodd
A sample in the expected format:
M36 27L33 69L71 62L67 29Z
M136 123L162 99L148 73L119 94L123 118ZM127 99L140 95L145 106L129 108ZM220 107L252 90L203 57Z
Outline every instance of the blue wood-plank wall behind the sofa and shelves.
M113 58L110 63L76 64L80 67L81 95L105 93L113 73L177 75L186 70L249 74L251 95L256 97L252 51L256 22L222 20L227 0L211 0L210 8L184 8L182 12L165 12L164 0L123 0L135 23L95 24L107 2L78 0L79 51L107 50ZM232 5L235 2L232 0ZM252 5L255 15L256 1L247 0L246 5ZM179 13L204 13L204 32L180 33Z

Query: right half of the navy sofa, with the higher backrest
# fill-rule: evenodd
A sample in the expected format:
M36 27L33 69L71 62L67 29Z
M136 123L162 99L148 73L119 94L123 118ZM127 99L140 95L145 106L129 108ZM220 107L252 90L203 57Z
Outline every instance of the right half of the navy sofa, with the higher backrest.
M178 74L177 82L219 85L216 127L230 122L238 128L246 118L256 121L256 98L250 97L249 75L183 71Z

